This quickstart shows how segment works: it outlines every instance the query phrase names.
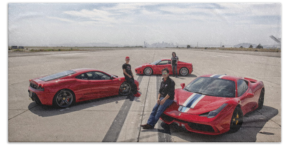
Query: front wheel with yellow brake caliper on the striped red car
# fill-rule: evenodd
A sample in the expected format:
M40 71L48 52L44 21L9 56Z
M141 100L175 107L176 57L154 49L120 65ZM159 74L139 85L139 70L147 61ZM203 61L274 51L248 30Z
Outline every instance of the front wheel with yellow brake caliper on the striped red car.
M243 112L239 106L234 109L231 122L230 122L230 133L237 132L243 123Z

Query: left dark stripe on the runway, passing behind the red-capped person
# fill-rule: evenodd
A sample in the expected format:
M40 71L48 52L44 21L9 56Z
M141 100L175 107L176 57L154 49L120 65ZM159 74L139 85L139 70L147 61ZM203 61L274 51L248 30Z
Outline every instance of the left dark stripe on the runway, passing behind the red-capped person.
M142 79L143 79L143 76L139 76L137 79L137 81L139 82L139 86L140 86ZM117 141L131 105L132 105L132 101L130 101L129 99L126 99L124 101L122 107L120 108L120 111L118 112L115 119L113 120L102 142L116 142Z

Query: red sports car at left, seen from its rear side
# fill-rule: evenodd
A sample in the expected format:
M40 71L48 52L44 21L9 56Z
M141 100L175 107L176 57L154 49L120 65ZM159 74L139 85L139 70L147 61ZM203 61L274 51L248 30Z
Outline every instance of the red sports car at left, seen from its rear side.
M139 82L134 80L139 90ZM68 107L72 103L113 95L128 95L124 77L96 69L72 69L30 79L29 97L37 104Z

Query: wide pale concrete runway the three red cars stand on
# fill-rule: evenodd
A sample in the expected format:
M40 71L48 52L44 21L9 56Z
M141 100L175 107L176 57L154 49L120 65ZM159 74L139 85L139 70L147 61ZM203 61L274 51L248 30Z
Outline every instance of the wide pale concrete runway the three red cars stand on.
M192 62L192 74L171 77L175 88L204 74L227 74L264 82L264 106L244 116L240 130L216 136L167 126L161 120L152 130L143 130L157 99L160 75L135 75L140 97L111 96L77 103L66 109L39 106L28 96L29 79L76 68L95 68L123 76L122 64L130 57L134 68L161 58ZM256 54L255 54L256 53ZM257 54L258 53L258 54ZM268 54L268 55L267 55ZM280 54L280 55L279 55ZM281 53L141 48L70 52L9 52L8 141L9 142L280 142ZM274 57L271 57L274 56Z

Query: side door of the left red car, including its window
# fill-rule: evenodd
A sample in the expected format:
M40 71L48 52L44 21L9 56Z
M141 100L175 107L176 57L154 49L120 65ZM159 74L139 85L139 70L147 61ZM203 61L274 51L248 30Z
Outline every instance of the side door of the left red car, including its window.
M118 82L115 78L101 71L90 73L89 81L94 97L101 98L118 94Z

